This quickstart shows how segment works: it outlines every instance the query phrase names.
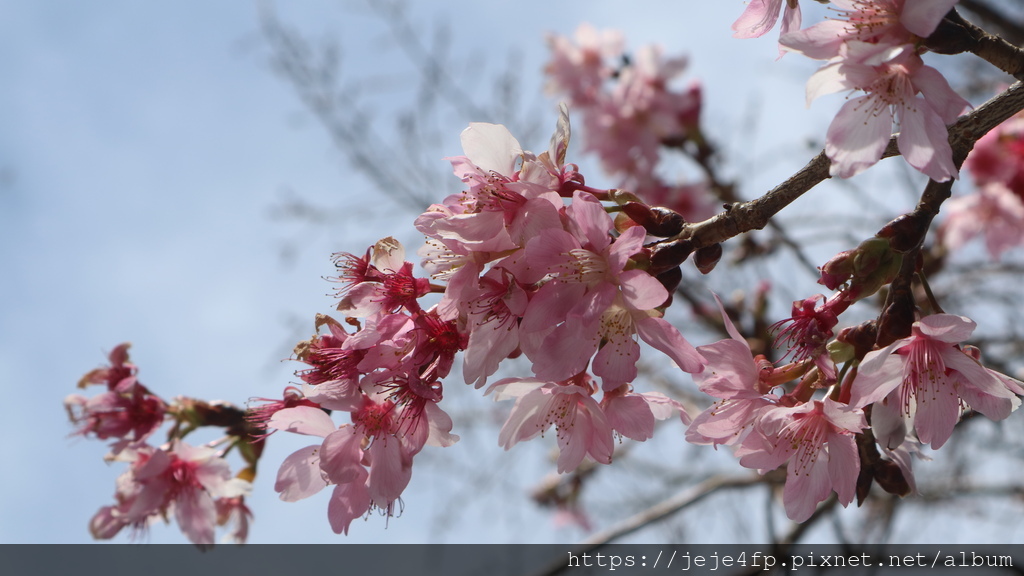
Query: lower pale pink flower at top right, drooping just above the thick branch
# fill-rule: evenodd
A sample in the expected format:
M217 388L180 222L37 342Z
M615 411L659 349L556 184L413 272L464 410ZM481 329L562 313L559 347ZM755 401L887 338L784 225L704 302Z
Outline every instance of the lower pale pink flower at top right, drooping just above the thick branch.
M877 163L895 121L907 163L937 181L957 176L946 125L970 105L941 73L925 66L913 46L844 43L840 55L808 81L808 102L844 89L866 94L843 105L828 127L825 153L833 175L847 178Z

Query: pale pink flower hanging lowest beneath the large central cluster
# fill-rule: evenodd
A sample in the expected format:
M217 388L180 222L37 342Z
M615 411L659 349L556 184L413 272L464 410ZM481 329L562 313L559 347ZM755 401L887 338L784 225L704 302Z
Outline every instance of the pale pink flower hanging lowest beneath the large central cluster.
M495 382L487 394L496 393L496 401L515 399L498 435L498 444L508 450L554 425L560 474L574 470L587 455L602 464L611 463L611 425L592 398L594 392L593 381L586 374L561 382L531 378Z

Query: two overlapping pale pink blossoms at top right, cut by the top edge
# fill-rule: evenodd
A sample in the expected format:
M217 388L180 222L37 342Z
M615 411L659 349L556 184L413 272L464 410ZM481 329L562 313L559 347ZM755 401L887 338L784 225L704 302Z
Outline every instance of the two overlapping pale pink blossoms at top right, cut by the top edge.
M842 16L779 39L787 50L828 64L807 84L808 104L839 90L863 90L836 115L825 138L833 175L850 177L879 161L893 122L906 161L929 177L957 176L945 126L970 105L925 66L927 38L955 0L838 0ZM918 94L921 93L921 96Z

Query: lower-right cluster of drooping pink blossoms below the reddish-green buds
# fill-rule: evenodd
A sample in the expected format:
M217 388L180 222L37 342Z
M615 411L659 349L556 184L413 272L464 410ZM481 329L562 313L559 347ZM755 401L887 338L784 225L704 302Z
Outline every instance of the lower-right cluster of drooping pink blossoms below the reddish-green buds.
M786 464L782 497L792 520L809 519L831 492L844 506L853 500L861 469L856 438L868 427L868 407L876 440L912 486L909 454L921 445L941 447L965 410L1000 420L1020 406L1021 382L985 368L975 348L959 345L974 323L945 314L915 322L911 336L867 353L858 370L837 381L833 359L853 360L843 355L843 334L829 346L836 351L830 357L800 353L801 341L823 343L833 336L830 326L822 332L820 319L831 316L830 302L842 300L815 307L815 299L794 306L801 314L780 340L791 341L796 360L783 366L754 357L722 311L731 337L697 348L708 367L694 375L701 392L719 400L693 419L686 436L694 444L736 446L740 465L750 468ZM835 325L835 317L825 324ZM826 390L823 397L819 389Z

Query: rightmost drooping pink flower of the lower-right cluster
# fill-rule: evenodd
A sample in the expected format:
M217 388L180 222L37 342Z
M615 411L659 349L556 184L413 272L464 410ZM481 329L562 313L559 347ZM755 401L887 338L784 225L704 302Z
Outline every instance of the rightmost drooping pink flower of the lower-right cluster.
M959 342L975 323L962 316L938 314L914 322L911 335L864 357L851 388L850 403L874 404L872 422L901 418L916 430L923 444L940 448L952 435L964 405L1001 420L1020 406L1010 378L984 368L965 354ZM1019 389L1019 383L1014 382ZM877 415L877 416L876 416ZM898 425L883 424L891 434L877 434L892 449L902 441ZM895 438L894 438L895 437Z

